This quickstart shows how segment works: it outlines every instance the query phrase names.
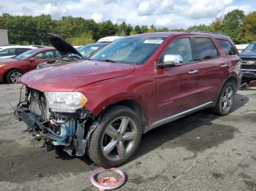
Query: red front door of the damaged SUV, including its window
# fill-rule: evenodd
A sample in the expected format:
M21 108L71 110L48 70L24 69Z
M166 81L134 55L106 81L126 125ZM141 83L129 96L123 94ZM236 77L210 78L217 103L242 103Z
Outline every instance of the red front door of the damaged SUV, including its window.
M157 69L157 120L169 117L197 106L199 94L197 86L199 75L197 63L192 63L192 48L189 37L174 39L159 58L163 61L165 55L181 55L183 64L165 69Z

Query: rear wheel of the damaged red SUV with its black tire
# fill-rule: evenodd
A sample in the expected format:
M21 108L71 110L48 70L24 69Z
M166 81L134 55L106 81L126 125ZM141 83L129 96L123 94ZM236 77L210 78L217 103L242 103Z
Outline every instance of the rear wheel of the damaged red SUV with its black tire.
M212 109L215 114L218 114L220 116L225 116L232 111L234 100L235 100L235 93L236 93L235 86L236 85L234 85L233 82L227 82L222 87L222 92L219 94L217 104ZM230 98L225 98L228 90L232 90L233 95ZM227 106L229 106L227 109L225 109L225 102L224 102L225 99L227 99L227 101L225 102L229 103L227 104Z

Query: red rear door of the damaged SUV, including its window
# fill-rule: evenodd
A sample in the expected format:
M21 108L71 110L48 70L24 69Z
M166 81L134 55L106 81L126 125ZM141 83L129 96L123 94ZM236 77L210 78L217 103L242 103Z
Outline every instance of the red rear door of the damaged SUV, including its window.
M200 104L215 101L222 83L228 76L230 63L221 57L217 43L210 36L193 37L192 49L199 71Z

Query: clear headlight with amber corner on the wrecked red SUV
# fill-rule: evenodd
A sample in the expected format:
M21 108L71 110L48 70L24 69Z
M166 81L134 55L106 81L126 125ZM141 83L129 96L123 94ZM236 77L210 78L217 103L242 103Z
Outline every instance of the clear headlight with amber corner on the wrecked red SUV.
M86 96L79 92L45 92L45 97L53 112L75 112L87 102Z

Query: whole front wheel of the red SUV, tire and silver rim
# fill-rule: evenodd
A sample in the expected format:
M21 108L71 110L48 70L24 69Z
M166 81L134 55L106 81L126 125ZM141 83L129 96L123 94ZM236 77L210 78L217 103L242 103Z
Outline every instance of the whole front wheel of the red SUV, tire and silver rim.
M138 149L141 135L138 114L127 106L113 106L91 135L89 157L104 168L122 165Z

